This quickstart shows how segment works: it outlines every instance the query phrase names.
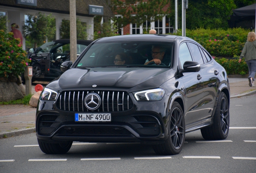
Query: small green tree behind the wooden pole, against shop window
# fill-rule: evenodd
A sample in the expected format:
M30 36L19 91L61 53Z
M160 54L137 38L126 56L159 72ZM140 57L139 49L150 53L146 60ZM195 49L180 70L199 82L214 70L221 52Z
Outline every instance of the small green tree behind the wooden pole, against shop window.
M87 40L88 33L87 24L85 22L81 22L79 18L76 18L76 39ZM70 20L62 20L60 26L60 36L62 39L70 38Z

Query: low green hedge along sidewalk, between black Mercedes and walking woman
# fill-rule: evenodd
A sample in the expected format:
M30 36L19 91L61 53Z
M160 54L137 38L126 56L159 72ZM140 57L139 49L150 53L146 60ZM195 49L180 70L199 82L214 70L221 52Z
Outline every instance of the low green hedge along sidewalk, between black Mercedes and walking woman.
M244 58L239 63L239 58L215 58L215 60L223 66L227 74L248 74L248 66Z

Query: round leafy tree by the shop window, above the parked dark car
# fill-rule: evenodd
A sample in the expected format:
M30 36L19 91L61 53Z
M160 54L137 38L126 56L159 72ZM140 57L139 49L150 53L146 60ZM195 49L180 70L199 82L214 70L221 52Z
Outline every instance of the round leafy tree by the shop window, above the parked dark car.
M45 15L38 12L35 15L27 14L28 18L23 23L23 35L26 39L34 42L34 48L37 44L48 39L53 39L56 31L55 18L52 15Z

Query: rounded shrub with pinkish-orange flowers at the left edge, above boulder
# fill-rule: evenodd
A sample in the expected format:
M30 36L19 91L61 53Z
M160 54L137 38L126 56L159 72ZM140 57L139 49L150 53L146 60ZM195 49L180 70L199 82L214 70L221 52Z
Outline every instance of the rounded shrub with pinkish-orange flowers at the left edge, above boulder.
M13 33L0 30L0 77L18 77L25 71L28 62L27 52L22 50L19 38L13 38Z

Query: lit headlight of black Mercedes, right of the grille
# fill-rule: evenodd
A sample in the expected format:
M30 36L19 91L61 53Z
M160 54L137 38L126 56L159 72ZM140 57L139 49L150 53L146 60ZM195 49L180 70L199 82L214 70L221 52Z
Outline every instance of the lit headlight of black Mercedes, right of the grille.
M134 92L133 94L137 101L160 101L165 95L165 90L159 88Z

